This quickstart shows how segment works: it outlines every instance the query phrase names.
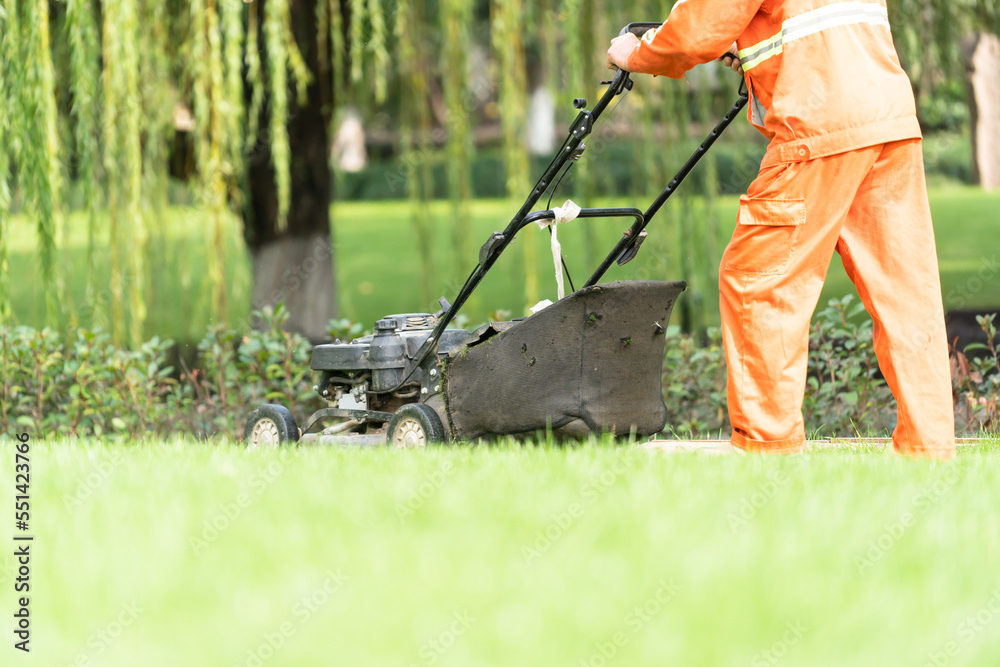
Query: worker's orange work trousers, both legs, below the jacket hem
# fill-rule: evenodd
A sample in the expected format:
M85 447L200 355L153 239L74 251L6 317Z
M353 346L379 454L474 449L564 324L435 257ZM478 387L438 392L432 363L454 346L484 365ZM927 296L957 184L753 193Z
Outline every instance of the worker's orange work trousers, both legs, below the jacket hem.
M805 445L809 323L833 252L874 321L898 406L893 445L955 451L951 374L921 141L768 165L740 198L719 290L732 444Z

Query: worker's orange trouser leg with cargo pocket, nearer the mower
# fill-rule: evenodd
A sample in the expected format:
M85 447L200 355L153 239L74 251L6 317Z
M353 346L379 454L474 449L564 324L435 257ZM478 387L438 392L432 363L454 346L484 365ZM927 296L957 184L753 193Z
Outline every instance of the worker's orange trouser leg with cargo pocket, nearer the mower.
M719 271L732 443L805 444L809 321L851 202L879 149L761 170Z

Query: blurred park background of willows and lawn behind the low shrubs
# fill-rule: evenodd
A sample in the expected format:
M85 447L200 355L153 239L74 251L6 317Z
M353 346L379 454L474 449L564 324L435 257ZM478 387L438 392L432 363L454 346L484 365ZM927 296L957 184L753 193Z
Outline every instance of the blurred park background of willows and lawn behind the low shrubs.
M286 326L315 342L433 312L520 207L573 100L599 98L611 37L672 5L0 0L0 323L183 344L284 303ZM925 132L946 309L995 310L1000 5L889 11ZM635 84L553 206L644 209L739 77L709 63ZM675 323L716 324L719 257L764 149L734 123L608 279L687 280ZM626 226L561 231L573 276ZM833 264L824 302L852 291ZM463 321L543 298L555 299L548 234L526 229Z

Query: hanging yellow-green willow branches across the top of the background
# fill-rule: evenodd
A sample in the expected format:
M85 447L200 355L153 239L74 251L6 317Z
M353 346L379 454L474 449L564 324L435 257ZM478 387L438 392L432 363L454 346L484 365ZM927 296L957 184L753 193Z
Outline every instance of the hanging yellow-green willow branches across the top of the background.
M400 128L399 172L406 180L400 192L414 202L422 258L441 242L426 203L434 168L443 167L454 202L447 271L460 275L471 255L465 225L474 123L499 110L507 190L524 196L524 109L535 61L546 61L540 69L564 102L560 122L568 120L569 99L593 100L597 92L608 38L631 20L664 18L673 4L642 0L626 10L602 0L0 0L0 318L10 317L13 203L38 239L49 323L71 324L78 316L83 325L110 326L118 340L139 342L148 333L150 259L164 238L165 184L178 162L171 156L191 145L193 168L181 175L195 185L208 221L204 270L216 316L226 310L224 234L236 216L253 260L254 305L284 301L299 330L322 336L336 312L328 145L337 110L348 102L365 114L387 111ZM935 72L960 73L962 36L1000 32L998 5L889 3L918 93L940 79ZM470 66L477 49L492 67ZM474 85L484 76L487 86ZM692 98L683 83L641 99L646 134L664 127L684 134L712 116L709 100ZM190 120L182 122L186 114ZM178 140L178 128L189 133L187 144ZM575 187L586 193L592 176L581 166ZM668 173L648 156L632 168L651 189ZM711 195L711 163L707 171ZM60 304L64 201L72 182L85 210L88 293L114 295L109 308L94 300L86 313ZM664 254L664 262L677 261L664 270L702 276L708 294L721 243L714 232L691 227L700 211L690 204L681 202L667 217L675 238L703 247L694 264ZM535 252L527 234L521 248L534 275L530 267L544 262L545 253ZM110 266L110 284L98 281L103 265ZM423 267L425 296L436 265ZM531 280L527 291L526 300L537 298Z

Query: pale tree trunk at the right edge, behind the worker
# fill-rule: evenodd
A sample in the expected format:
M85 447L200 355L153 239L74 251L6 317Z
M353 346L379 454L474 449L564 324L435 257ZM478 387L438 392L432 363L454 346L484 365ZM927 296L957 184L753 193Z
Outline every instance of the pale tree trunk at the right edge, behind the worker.
M992 190L1000 188L1000 38L981 33L964 46L973 177Z

